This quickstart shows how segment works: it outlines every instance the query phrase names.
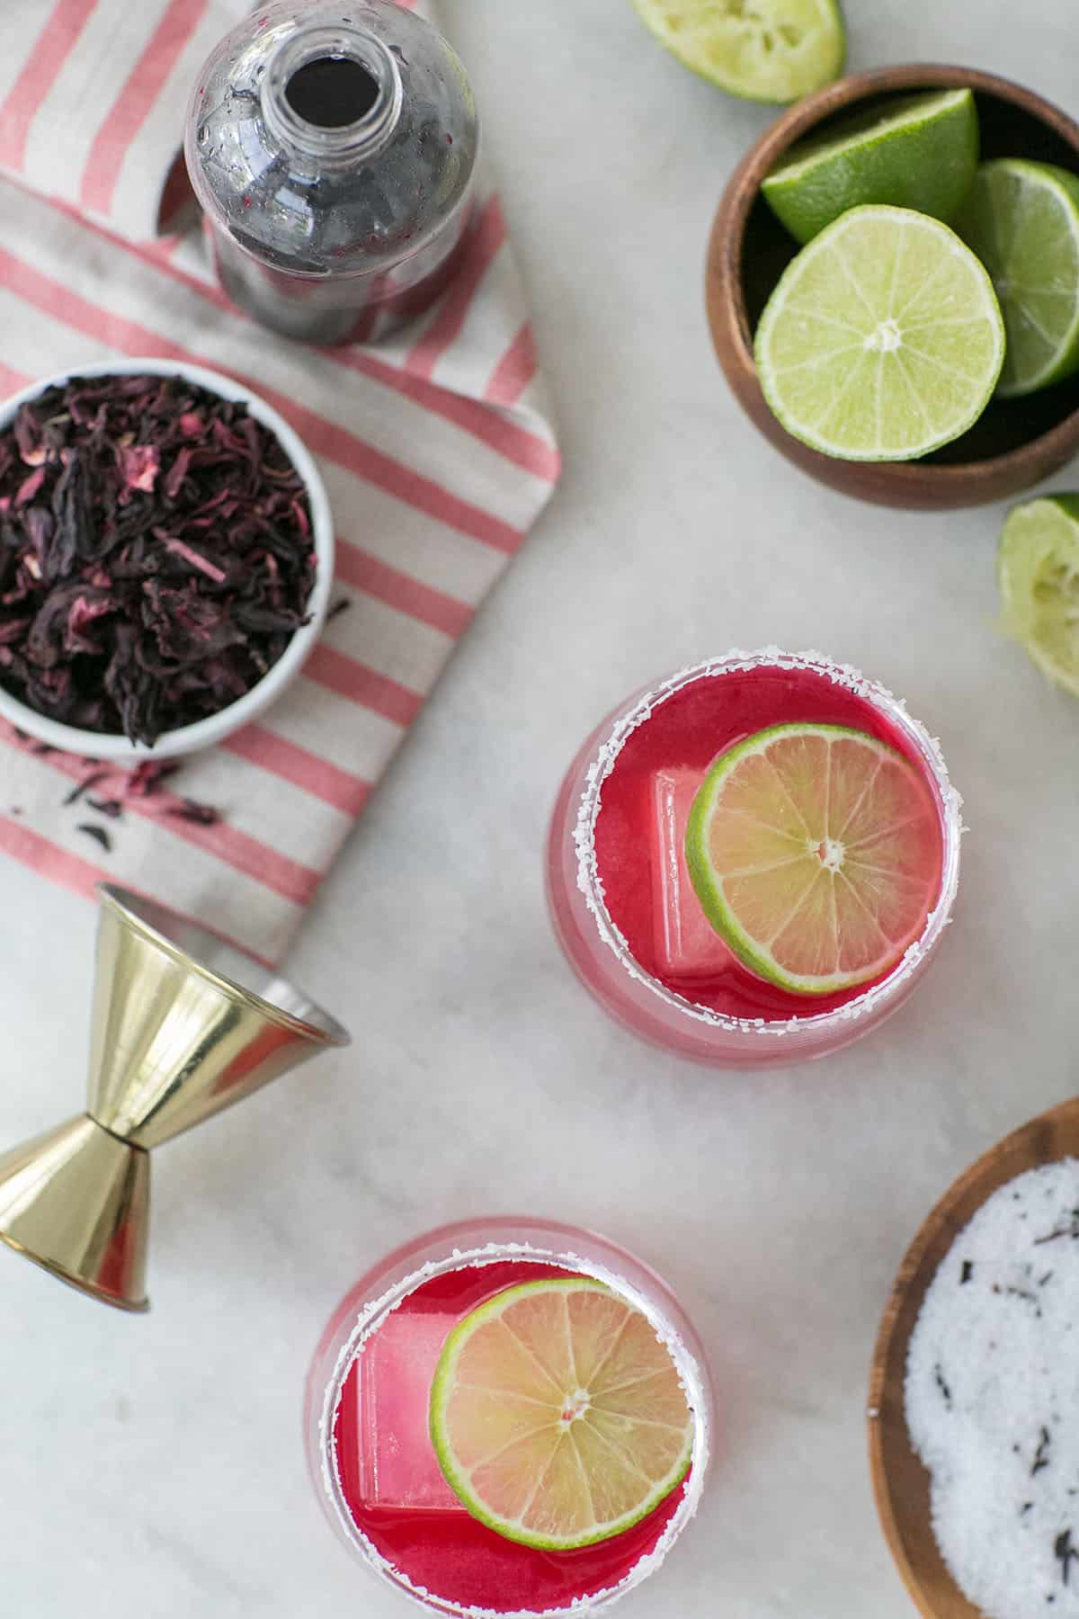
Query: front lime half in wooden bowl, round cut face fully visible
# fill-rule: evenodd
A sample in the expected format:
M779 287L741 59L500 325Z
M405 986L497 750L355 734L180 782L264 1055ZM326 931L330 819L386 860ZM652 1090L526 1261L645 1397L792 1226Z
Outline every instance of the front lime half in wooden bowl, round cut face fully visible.
M788 432L849 461L908 461L985 410L1005 358L993 283L940 220L856 207L788 264L755 358Z

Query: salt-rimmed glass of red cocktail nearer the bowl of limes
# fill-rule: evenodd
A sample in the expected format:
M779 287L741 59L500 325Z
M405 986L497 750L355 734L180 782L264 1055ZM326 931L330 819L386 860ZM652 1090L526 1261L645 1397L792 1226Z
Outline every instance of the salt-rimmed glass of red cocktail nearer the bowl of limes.
M707 945L723 957L713 981L692 983L657 967L670 934L679 926L692 934L702 923L681 847L671 837L665 842L684 810L681 779L692 772L702 779L715 754L788 722L870 732L916 766L940 814L940 886L920 936L877 981L830 999L762 983L723 950L718 936ZM605 813L610 826L600 821ZM951 916L961 831L961 798L940 746L899 698L819 652L733 651L634 693L586 740L552 816L550 911L586 988L644 1039L717 1067L798 1062L869 1033L911 994ZM631 915L641 923L636 949L628 937Z

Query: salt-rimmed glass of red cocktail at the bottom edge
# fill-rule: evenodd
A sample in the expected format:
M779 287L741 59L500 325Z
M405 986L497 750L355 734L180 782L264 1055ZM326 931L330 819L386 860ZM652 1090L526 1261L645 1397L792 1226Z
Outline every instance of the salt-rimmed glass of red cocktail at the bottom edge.
M641 1310L666 1345L692 1415L692 1462L645 1519L576 1551L539 1551L472 1519L442 1478L427 1431L448 1332L518 1282L586 1276ZM419 1237L340 1303L307 1376L304 1436L330 1525L369 1569L442 1614L599 1611L654 1574L694 1515L713 1405L700 1342L666 1284L631 1253L529 1217L476 1219Z

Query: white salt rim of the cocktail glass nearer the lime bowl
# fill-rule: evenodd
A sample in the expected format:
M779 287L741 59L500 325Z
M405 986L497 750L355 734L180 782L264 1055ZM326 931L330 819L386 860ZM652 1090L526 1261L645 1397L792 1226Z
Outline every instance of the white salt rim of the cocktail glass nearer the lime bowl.
M827 675L833 685L846 686L848 691L853 691L856 696L862 698L862 701L878 709L917 748L917 753L933 782L941 808L945 848L943 869L940 876L940 895L935 907L925 918L922 933L906 947L899 962L896 962L888 976L882 978L880 983L872 984L861 996L854 996L854 999L846 1001L841 1007L833 1007L831 1012L814 1012L809 1017L801 1017L798 1013L788 1018L731 1017L726 1012L715 1012L712 1007L700 1005L700 1002L689 1001L686 996L679 996L676 991L668 989L666 984L660 983L658 978L654 978L652 973L645 973L645 970L637 963L624 934L607 908L603 881L599 874L595 822L602 808L603 782L615 769L626 740L639 725L652 717L654 709L657 709L662 703L666 703L668 698L683 691L686 686L694 685L697 680L746 672L751 669L806 669L810 674ZM874 680L867 680L861 670L853 669L849 664L833 664L823 656L823 652L785 652L778 646L764 646L751 652L733 649L725 652L721 657L710 657L704 664L692 664L689 669L679 669L678 674L670 675L654 691L645 691L642 698L637 698L631 709L615 720L610 735L599 745L594 759L587 766L587 784L581 795L581 803L578 805L573 840L578 855L578 889L581 890L584 903L595 921L600 939L615 954L618 965L629 978L644 984L644 988L657 996L657 999L663 1001L665 1005L684 1013L686 1017L696 1018L699 1023L707 1023L712 1028L721 1028L738 1035L781 1036L801 1033L802 1030L828 1030L835 1025L849 1023L859 1017L865 1017L869 1012L874 1012L882 1001L890 1001L899 986L911 978L951 921L951 907L954 905L956 890L959 887L959 839L964 831L963 798L948 779L948 766L945 764L945 758L940 751L940 742L937 737L930 737L920 720L916 720L911 714L908 714L903 698L896 698L886 686L882 686Z

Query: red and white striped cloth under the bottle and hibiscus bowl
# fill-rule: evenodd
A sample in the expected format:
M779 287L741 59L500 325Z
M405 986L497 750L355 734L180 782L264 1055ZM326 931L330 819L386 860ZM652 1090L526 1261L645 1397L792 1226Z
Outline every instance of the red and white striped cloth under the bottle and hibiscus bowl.
M495 194L480 194L461 277L379 348L275 342L220 295L199 232L147 241L191 78L246 5L3 0L0 168L26 185L0 175L0 393L131 355L251 384L319 458L333 601L349 610L260 724L186 761L175 795L126 797L115 821L86 797L63 803L86 764L0 725L0 855L86 894L123 881L277 960L547 504L558 450ZM95 780L92 797L120 788ZM171 813L181 798L222 819Z

